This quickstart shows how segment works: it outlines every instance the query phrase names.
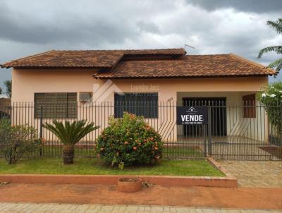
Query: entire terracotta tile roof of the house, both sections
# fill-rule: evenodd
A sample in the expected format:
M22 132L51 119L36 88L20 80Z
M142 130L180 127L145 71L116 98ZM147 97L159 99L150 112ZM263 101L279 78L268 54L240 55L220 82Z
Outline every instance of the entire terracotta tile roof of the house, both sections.
M186 55L185 49L66 50L16 59L20 68L102 68L94 78L190 78L275 75L276 71L234 54Z

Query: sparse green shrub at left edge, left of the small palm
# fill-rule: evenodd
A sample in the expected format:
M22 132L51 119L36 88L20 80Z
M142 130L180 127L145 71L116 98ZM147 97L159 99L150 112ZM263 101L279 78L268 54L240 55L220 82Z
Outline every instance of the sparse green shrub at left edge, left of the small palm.
M11 126L8 119L0 120L0 152L8 164L16 164L25 152L35 151L42 140L37 138L37 130L27 125Z

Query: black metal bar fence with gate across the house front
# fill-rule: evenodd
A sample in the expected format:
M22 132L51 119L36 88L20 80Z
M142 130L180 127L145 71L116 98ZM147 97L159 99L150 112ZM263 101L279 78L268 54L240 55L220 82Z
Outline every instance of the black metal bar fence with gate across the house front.
M75 106L75 107L73 107ZM176 107L207 107L205 125L177 125ZM275 109L282 111L281 104ZM267 109L259 102L235 103L226 101L190 102L91 102L74 103L13 103L0 108L0 118L9 119L11 125L28 125L37 129L44 145L39 150L25 153L25 157L60 157L63 145L43 123L87 119L99 129L82 138L75 146L77 157L95 157L98 135L109 125L109 118L118 118L123 111L145 117L164 141L164 157L215 159L281 160L282 135L277 126L269 122ZM71 116L68 116L70 115ZM282 122L281 117L277 117ZM276 122L277 123L277 122Z

